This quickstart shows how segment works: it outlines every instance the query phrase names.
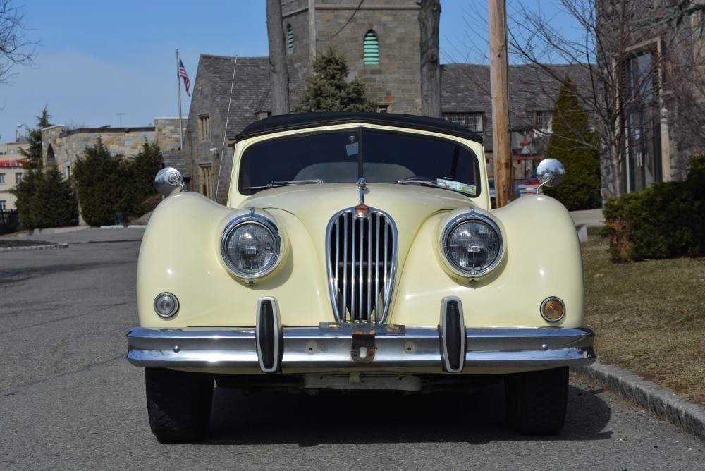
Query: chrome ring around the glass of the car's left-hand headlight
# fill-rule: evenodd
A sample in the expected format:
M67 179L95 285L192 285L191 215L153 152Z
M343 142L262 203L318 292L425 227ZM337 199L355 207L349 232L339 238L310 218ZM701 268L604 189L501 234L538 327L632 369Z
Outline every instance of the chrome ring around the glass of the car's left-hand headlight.
M238 231L238 229L243 228L243 226L256 226L257 228L262 228L266 233L269 234L272 244L272 253L266 264L257 269L243 269L242 266L238 265L238 262L231 258L231 254L228 252L228 245L231 237ZM250 212L249 214L244 214L242 216L237 216L235 219L230 221L225 229L223 229L223 234L221 236L220 242L220 252L223 264L231 274L237 276L245 281L255 281L268 274L271 274L274 269L281 262L281 251L282 251L282 239L278 230L278 226L274 221L269 219L262 214L255 214Z

